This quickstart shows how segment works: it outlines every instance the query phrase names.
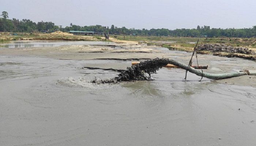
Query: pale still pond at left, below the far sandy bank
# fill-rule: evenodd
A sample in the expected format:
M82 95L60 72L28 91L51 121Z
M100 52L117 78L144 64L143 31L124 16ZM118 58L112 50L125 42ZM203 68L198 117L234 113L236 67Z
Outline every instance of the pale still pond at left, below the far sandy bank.
M27 48L27 47L59 47L67 45L113 45L113 42L100 41L13 41L8 44L0 44L3 48Z

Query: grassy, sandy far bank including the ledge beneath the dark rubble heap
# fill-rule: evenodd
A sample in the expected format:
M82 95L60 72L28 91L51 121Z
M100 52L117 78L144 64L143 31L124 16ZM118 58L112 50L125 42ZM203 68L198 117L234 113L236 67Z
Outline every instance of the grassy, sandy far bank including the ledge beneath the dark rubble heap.
M106 41L105 37L101 35L95 36L80 36L65 32L53 32L51 34L27 34L18 33L18 35L8 35L8 33L0 36L1 43L8 43L10 41ZM117 35L117 38L110 36L110 42L126 43L126 44L147 44L149 46L162 46L170 50L192 52L195 47L197 38L185 37L145 37L145 36L123 36ZM232 47L246 47L250 50L256 51L256 38L200 38L199 45L203 44L224 44ZM199 51L199 54L213 54L221 57L238 57L244 59L256 60L255 54L241 54L241 53L227 53L211 51Z

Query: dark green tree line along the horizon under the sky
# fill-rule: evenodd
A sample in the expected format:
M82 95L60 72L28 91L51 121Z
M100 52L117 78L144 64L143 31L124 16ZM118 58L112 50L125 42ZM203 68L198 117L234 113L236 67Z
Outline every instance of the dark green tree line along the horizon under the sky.
M113 35L144 35L144 36L171 36L171 37L239 37L251 38L256 37L256 26L252 28L210 28L210 26L197 26L193 29L175 29L169 30L166 28L161 29L135 29L126 27L105 27L101 25L95 26L79 26L70 23L70 26L62 27L56 26L52 22L33 22L29 19L7 19L8 13L3 11L2 18L0 18L0 31L3 32L54 32L60 30L63 32L75 31L94 31L96 34L109 33Z

